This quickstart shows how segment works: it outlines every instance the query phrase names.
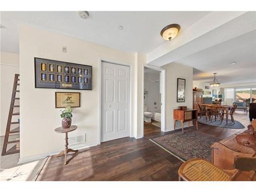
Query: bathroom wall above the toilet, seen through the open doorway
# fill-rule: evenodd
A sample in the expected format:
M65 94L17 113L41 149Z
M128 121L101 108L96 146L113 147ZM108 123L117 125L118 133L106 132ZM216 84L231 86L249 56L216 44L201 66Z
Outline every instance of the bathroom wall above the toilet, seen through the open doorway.
M160 73L144 73L144 90L147 90L147 111L161 112ZM154 104L156 102L156 105Z

